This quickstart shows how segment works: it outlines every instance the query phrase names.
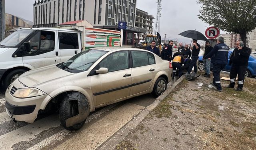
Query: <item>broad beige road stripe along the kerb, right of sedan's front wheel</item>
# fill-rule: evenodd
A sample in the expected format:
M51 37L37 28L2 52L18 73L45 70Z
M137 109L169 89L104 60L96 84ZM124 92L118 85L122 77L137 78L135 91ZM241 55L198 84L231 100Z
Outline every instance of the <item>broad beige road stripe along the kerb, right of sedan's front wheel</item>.
M143 108L143 106L126 103L94 124L90 126L85 124L79 134L66 140L56 147L55 150L70 150L72 148L94 150L129 122Z

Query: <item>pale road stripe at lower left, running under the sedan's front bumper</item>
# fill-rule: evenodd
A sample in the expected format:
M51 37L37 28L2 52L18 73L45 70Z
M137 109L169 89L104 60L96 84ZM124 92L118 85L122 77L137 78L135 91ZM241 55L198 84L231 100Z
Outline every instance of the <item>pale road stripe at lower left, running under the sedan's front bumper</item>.
M8 132L7 134L0 136L0 150L12 150L13 144L22 141L30 141L36 138L35 135L41 133L42 131L58 126L60 126L58 115L52 115L42 118L32 124L18 128L14 131Z

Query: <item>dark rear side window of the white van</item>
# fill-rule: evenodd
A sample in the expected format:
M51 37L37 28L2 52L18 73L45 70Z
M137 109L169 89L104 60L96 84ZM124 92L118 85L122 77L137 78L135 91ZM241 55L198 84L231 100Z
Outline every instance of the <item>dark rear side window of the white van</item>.
M78 49L77 33L58 32L60 50L62 49Z

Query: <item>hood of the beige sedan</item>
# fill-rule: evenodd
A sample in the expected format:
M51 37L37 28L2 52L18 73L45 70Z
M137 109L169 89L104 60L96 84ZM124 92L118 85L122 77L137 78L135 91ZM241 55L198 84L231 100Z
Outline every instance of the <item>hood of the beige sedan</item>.
M71 74L72 73L52 65L25 72L18 78L18 80L28 87L36 87L39 84L44 84L51 80L62 78Z

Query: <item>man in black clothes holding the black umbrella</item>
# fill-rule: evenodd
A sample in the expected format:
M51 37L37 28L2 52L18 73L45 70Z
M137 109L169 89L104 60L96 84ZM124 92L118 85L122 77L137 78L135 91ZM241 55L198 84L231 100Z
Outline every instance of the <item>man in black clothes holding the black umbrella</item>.
M198 60L198 55L199 55L201 46L197 43L196 39L193 39L192 44L193 44L193 48L191 48L191 46L190 46L190 49L192 50L192 52L191 52L191 62L190 62L190 65L188 67L188 72L184 75L190 75L190 72L191 72L193 67L194 67L194 72L197 73L196 61Z

